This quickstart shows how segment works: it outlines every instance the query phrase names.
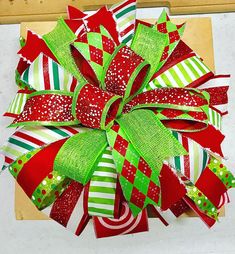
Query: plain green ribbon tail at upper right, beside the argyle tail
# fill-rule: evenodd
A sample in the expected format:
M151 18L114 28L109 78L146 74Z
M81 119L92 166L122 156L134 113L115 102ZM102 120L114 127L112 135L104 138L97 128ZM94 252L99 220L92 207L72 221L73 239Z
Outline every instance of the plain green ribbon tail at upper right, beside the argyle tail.
M131 49L143 57L151 66L144 84L147 84L159 69L158 66L167 44L167 37L167 34L160 33L154 28L142 24L139 24L136 29ZM146 45L148 46L146 47Z

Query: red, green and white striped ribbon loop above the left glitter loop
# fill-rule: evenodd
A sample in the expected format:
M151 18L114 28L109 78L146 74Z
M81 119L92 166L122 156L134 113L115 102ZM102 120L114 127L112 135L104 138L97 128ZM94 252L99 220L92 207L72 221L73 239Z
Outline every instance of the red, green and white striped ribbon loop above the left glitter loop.
M50 57L40 54L23 72L21 80L37 91L74 91L77 80Z

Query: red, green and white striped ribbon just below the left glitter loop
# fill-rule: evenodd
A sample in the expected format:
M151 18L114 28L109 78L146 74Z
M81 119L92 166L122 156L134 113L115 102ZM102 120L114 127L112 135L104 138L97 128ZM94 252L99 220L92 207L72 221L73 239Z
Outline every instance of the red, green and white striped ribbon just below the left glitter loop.
M57 140L73 136L78 132L86 131L83 127L25 127L17 130L1 147L0 153L5 157L3 169L12 164L17 158L40 148L46 144L51 144Z

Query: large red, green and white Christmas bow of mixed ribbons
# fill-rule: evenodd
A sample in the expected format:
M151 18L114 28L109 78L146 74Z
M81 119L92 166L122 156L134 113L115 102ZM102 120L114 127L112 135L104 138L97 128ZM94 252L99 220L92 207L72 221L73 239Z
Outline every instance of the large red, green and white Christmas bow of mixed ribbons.
M74 20L59 19L43 38L28 32L20 50L27 62L20 60L16 75L24 89L8 112L15 116L11 126L24 128L4 148L11 154L5 164L38 209L55 201L50 216L64 226L69 219L61 221L67 215L58 207L70 203L75 209L83 197L83 224L76 234L89 215L119 218L120 204L121 214L130 209L136 217L133 223L146 220L148 205L176 211L184 204L211 225L221 196L234 185L233 175L208 154L222 156L223 136L211 125L220 126L212 117L220 115L213 109L220 103L216 91L193 88L213 74L180 41L184 24L172 24L165 12L157 29L140 22L130 47L120 43L130 38L113 30L112 15L118 19L123 6L114 7L113 14L106 8L95 14L106 13L110 23L101 18L97 26L94 17L69 8ZM223 97L224 103L226 92ZM201 138L211 133L216 145ZM191 146L205 157L195 179L187 163L186 173L180 165L195 159ZM214 186L206 186L209 177L217 183L215 193Z

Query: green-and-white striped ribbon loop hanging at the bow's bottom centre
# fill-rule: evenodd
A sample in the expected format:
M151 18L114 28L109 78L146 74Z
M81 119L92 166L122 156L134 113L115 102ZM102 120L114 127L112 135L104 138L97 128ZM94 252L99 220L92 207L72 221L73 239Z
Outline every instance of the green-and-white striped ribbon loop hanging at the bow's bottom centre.
M91 178L88 213L91 216L114 217L117 173L111 148L104 151Z

